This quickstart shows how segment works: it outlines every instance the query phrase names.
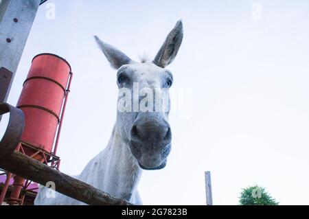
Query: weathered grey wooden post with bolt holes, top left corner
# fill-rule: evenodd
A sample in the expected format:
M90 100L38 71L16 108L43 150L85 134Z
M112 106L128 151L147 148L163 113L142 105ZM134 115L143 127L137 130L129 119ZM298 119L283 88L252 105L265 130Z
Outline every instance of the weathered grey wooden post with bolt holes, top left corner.
M3 67L12 72L10 80L0 80L0 87L7 87L6 92L1 92L2 102L8 99L14 75L40 3L41 0L0 1L0 68ZM7 76L8 73L0 75L5 78Z

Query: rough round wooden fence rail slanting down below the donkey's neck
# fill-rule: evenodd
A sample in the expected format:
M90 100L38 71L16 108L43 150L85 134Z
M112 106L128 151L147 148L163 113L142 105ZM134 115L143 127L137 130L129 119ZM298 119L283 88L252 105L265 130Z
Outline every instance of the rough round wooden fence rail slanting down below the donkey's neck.
M126 200L110 196L92 185L50 168L39 161L21 154L21 152L14 151L10 156L1 157L0 168L41 185L46 185L47 182L54 182L56 192L80 200L88 205L131 205Z

